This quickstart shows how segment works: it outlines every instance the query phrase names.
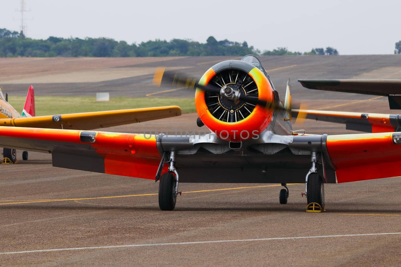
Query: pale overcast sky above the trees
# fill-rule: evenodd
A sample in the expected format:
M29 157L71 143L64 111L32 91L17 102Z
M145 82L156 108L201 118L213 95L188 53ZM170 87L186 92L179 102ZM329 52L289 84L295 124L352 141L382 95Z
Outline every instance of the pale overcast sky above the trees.
M260 50L392 54L401 40L399 0L25 0L31 38L108 37L247 41ZM0 0L0 28L20 30L20 0Z

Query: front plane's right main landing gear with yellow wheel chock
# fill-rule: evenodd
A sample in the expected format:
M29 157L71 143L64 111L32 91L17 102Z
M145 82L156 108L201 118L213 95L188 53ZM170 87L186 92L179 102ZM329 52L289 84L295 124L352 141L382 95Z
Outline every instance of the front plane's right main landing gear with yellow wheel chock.
M308 206L306 212L322 212L326 211L324 206L324 184L322 177L318 174L316 163L318 161L318 153L312 151L311 155L312 167L305 177L305 194Z

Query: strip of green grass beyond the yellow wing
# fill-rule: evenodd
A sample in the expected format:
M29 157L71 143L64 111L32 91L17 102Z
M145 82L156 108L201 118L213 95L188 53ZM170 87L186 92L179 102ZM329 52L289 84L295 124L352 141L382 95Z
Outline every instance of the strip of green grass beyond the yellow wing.
M12 96L8 102L22 112L25 99L25 96ZM35 96L36 116L174 105L179 106L182 113L196 111L194 98L113 97L107 102L97 102L95 97L89 96Z

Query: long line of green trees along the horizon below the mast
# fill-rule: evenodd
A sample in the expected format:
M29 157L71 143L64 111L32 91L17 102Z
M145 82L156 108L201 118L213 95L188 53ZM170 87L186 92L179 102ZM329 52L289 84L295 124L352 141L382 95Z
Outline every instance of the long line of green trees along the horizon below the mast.
M0 57L142 57L142 56L243 56L256 55L337 55L334 48L313 48L310 52L291 52L287 48L261 52L247 42L216 40L213 36L206 43L193 40L149 40L140 44L128 44L111 38L60 38L50 36L46 40L26 38L22 32L0 29Z

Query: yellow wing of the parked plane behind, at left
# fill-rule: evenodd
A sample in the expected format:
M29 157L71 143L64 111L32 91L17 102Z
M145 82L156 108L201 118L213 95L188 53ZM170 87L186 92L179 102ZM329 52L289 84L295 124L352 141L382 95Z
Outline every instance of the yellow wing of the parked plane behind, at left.
M180 116L178 106L134 108L73 114L0 119L1 126L90 130Z

